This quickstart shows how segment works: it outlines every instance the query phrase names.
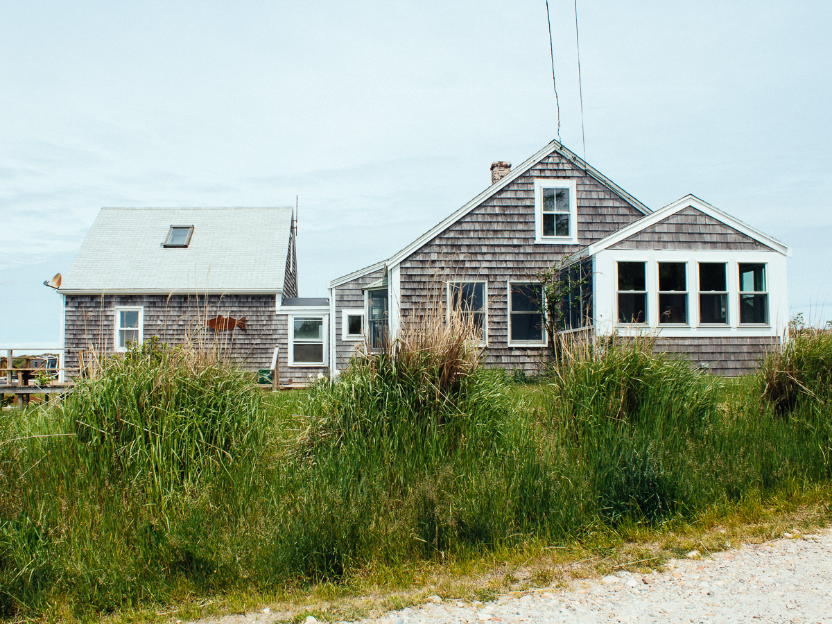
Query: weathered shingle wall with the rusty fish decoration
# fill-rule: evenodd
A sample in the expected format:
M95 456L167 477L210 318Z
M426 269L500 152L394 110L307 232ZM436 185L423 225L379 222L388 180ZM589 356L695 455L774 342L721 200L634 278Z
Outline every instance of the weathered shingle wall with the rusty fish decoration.
M280 295L278 295L280 296ZM66 295L65 346L67 378L78 374L78 354L90 349L111 354L116 306L144 308L144 339L182 344L187 338L217 339L225 354L244 369L267 369L275 345L285 360L285 319L275 315L275 295ZM217 314L239 319L246 329L206 329L206 319ZM278 324L282 323L282 333Z

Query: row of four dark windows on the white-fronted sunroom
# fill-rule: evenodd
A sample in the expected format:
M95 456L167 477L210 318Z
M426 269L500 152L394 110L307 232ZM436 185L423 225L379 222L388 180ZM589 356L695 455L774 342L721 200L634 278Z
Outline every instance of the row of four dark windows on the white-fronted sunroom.
M688 265L696 266L694 300L698 301L699 323L729 324L728 263L659 262L655 298L647 291L646 262L617 263L617 306L619 323L646 324L651 300L658 306L660 324L691 324L691 291ZM768 324L769 303L764 263L738 263L737 305L740 324Z

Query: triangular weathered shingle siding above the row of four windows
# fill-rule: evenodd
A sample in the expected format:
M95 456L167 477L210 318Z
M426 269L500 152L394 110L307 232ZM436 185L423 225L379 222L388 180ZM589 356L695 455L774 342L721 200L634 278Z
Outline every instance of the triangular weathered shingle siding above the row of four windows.
M645 250L741 250L771 248L706 215L693 206L611 245L610 249Z

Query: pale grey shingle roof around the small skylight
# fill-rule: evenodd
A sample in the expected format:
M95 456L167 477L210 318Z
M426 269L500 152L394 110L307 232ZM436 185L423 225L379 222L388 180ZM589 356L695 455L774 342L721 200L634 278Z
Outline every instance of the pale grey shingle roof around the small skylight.
M186 249L164 248L193 225ZM292 208L102 208L60 292L283 289Z

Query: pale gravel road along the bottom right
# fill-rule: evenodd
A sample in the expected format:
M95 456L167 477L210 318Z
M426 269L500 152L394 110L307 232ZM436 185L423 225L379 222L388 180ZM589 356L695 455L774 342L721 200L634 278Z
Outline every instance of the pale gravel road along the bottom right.
M789 535L788 533L785 535ZM249 624L274 614L248 614ZM215 621L216 622L216 621ZM229 622L225 618L223 624ZM236 620L235 622L240 622ZM674 560L665 572L615 575L510 594L388 612L362 624L465 622L824 622L832 624L832 531L791 536L711 557ZM307 618L307 624L314 624Z

